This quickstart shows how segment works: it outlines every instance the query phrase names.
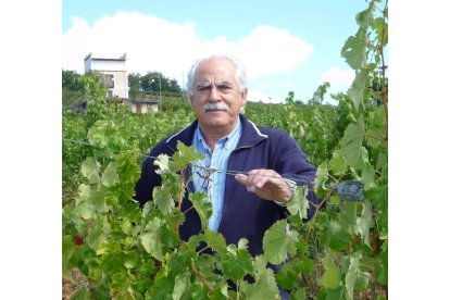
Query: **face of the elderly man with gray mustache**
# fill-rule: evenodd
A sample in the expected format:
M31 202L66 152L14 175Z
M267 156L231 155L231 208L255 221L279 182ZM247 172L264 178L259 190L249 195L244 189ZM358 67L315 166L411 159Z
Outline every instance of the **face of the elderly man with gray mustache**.
M239 91L235 75L226 59L211 59L197 68L190 104L203 130L229 133L236 125L247 89Z

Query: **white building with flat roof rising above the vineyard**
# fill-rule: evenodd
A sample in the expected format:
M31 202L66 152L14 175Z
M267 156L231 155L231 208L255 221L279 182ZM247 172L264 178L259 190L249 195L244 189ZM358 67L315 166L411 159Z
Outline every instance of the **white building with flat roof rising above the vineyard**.
M105 75L104 86L109 98L128 98L128 75L126 72L126 53L120 58L85 58L85 73L98 71Z

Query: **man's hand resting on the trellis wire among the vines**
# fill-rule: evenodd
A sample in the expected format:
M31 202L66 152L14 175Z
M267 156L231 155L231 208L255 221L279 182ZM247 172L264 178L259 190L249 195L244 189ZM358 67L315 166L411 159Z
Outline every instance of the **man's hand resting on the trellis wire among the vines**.
M286 203L291 197L289 185L273 170L252 170L248 175L238 174L236 180L247 190L265 200Z

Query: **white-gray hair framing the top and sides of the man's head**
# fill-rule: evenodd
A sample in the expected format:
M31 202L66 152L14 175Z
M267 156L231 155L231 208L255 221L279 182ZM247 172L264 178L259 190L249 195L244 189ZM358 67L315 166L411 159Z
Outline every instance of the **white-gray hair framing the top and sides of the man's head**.
M201 65L203 62L209 61L211 59L225 59L229 61L230 63L233 63L236 68L235 76L236 76L236 82L237 82L239 91L243 91L245 89L248 88L246 66L239 59L233 55L229 55L229 54L213 54L213 55L209 55L209 57L198 60L190 67L189 73L188 73L188 80L186 84L186 91L187 91L188 98L191 98L193 96L193 88L195 88L193 82L196 79L196 73L197 73L199 65Z

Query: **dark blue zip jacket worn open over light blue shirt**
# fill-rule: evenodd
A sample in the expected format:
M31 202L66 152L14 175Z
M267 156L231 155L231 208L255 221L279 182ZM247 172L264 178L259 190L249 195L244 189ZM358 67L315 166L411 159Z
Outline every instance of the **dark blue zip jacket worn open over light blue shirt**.
M283 177L295 178L299 185L313 182L316 168L307 162L307 155L298 143L285 132L268 127L255 126L240 115L242 135L228 159L227 170L249 172L254 168L271 168ZM180 140L184 145L191 146L193 132L198 121L177 134L160 141L151 151L150 157L161 153L172 155L176 151L176 143ZM142 173L136 184L136 197L141 204L151 200L152 190L161 185L160 175L155 174L153 159L146 159L142 163ZM193 192L193 184L189 183L188 191ZM309 200L317 204L317 198L310 191ZM191 202L186 197L182 203L182 211L187 211ZM314 213L314 207L310 204L309 217ZM255 193L247 191L234 178L227 175L225 180L225 196L221 225L221 233L227 242L236 243L245 237L249 240L249 251L252 255L263 252L262 239L266 229L276 221L285 218L287 210L273 201L262 200ZM183 240L200 233L201 223L196 210L186 213L186 221L179 228Z

